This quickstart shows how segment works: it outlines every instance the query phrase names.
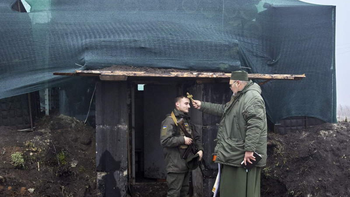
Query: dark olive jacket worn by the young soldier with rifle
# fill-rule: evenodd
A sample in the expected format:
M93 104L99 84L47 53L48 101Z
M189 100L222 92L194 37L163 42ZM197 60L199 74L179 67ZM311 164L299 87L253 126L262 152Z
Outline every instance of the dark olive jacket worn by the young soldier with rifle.
M195 128L191 126L190 117L177 109L174 109L173 112L177 120L184 118L184 126L186 130L194 136L193 141L196 144L196 148L198 151L203 150L201 138L195 131ZM166 171L168 173L183 173L189 170L186 166L186 160L181 158L179 150L187 147L183 136L184 134L181 129L175 125L172 117L168 115L165 120L163 120L160 129L160 144L163 147Z

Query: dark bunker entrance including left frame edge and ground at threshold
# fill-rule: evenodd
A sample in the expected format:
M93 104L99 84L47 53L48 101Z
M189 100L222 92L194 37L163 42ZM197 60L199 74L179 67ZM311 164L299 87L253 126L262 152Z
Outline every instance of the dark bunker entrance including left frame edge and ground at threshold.
M131 95L131 196L165 196L167 193L160 125L174 108L181 92L175 84L134 84ZM129 160L130 161L130 160Z

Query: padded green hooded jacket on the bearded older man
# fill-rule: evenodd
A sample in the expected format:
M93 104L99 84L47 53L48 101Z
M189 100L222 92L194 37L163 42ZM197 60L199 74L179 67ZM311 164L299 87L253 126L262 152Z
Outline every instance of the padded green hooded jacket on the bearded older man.
M267 120L261 89L251 80L226 104L202 102L204 113L221 116L214 149L216 162L240 167L245 151L262 156L257 167L266 165Z

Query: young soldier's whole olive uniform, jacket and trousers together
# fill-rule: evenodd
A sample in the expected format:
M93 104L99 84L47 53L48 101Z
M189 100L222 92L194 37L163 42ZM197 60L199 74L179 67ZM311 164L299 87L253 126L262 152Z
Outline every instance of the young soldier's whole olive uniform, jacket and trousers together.
M187 132L194 136L194 143L197 151L203 150L200 136L196 133L194 126L190 122L190 117L177 109L173 110L177 120L183 118L184 127ZM168 115L161 124L160 143L163 147L166 171L167 171L167 197L184 197L189 190L189 169L186 160L181 157L187 149L185 144L185 134L180 127L175 125L173 118Z

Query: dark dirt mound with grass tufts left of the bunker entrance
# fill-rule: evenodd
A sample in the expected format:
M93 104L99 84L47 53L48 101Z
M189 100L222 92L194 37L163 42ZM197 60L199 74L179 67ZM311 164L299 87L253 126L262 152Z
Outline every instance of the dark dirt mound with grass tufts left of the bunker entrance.
M92 127L60 115L39 120L34 132L0 127L0 136L0 196L97 196Z

